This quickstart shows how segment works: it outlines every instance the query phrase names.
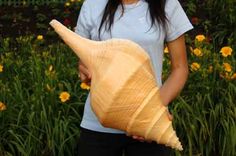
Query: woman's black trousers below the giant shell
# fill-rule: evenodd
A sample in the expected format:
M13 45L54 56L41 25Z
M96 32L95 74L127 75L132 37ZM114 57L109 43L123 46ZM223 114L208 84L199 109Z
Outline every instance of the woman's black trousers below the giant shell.
M125 134L81 128L78 156L170 156L171 149L155 142L140 142Z

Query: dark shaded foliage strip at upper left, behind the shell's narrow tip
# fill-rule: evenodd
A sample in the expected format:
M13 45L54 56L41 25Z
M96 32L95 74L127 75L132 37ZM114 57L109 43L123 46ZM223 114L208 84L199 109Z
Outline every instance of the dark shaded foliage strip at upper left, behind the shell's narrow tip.
M51 32L48 31L51 29L48 23L54 18L72 29L76 25L82 2L82 0L71 0L63 3L51 1L44 5L27 3L20 6L1 6L0 36L16 37L32 33L48 35Z

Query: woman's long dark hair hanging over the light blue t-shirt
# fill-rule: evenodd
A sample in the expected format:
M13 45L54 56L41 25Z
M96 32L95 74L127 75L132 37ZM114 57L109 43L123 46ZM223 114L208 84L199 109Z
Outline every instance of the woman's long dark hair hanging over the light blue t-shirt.
M166 14L165 14L165 3L166 0L145 0L149 6L149 13L151 16L151 27L158 22L161 26L166 25ZM104 9L101 24L99 26L99 38L101 29L105 24L105 30L111 30L111 26L114 23L114 15L118 6L122 6L122 12L124 12L124 6L122 0L108 0L107 5Z

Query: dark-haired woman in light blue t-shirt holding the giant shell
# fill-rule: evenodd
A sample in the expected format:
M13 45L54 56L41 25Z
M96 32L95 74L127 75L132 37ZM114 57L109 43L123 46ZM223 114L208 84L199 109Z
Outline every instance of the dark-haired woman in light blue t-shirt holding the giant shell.
M143 47L150 55L161 100L167 106L187 80L184 33L190 29L192 25L178 0L85 0L76 33L92 40L129 39ZM171 73L162 85L165 42L170 51ZM89 83L91 74L82 62L79 71L81 81ZM89 95L79 141L79 156L170 155L170 149L164 145L103 127L91 110Z

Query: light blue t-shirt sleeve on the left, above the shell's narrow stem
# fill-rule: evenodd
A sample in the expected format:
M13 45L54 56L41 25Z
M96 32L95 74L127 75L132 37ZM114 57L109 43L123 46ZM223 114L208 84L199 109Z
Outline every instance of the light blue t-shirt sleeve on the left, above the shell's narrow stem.
M92 29L91 7L89 4L89 0L85 0L80 9L79 17L75 27L75 33L90 39L91 29Z

